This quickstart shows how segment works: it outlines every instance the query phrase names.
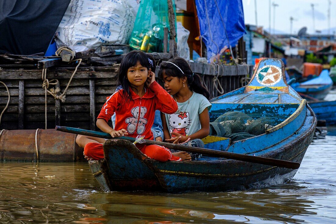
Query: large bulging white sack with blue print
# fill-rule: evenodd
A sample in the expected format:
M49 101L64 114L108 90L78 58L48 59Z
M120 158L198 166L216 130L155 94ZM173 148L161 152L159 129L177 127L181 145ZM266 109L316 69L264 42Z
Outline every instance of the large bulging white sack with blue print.
M57 47L100 52L101 44L127 44L138 7L137 0L71 0L56 30Z

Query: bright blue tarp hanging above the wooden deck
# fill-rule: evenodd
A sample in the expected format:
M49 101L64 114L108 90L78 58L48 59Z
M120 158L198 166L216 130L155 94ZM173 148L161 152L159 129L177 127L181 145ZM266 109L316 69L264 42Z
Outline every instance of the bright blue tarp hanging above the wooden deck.
M235 46L245 33L241 0L196 0L201 37L212 62L216 55ZM226 30L226 33L225 33Z

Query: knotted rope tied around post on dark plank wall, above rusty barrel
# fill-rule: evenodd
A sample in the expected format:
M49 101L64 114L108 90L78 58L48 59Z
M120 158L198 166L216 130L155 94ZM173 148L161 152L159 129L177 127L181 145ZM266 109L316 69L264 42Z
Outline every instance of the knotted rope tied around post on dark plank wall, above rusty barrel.
M60 48L59 48L60 49ZM56 51L57 52L57 51ZM60 92L60 88L51 88L51 89L48 89L49 88L49 85L56 85L58 83L58 80L57 79L52 79L52 80L48 80L47 79L47 69L42 69L42 80L43 80L43 83L42 83L42 88L44 88L44 107L45 107L45 110L44 110L44 116L45 116L45 129L47 129L47 92L49 92L49 94L51 96L53 96L56 100L60 100L63 102L65 102L66 100L66 91L71 83L71 80L72 78L74 77L74 75L76 74L77 72L77 69L78 67L80 66L80 64L82 63L82 59L79 59L78 60L78 65L76 66L75 68L75 71L72 73L70 79L69 79L69 82L67 84L67 87L65 88L65 90L63 91L63 93L61 95L58 95L58 93Z

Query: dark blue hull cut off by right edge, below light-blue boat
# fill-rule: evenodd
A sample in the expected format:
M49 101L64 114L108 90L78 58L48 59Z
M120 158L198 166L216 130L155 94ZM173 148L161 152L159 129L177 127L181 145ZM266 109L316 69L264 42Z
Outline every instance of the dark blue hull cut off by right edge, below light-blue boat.
M327 125L336 124L336 101L309 102L318 120L326 120Z

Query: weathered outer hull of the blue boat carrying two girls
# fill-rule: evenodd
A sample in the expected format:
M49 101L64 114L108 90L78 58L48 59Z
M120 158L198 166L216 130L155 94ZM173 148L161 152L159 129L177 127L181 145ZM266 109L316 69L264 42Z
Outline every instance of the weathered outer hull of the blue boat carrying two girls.
M316 117L306 111L295 135L280 144L257 152L258 156L301 162L312 141ZM159 162L148 159L129 141L111 139L104 143L105 159L89 161L92 173L104 175L98 181L109 191L228 191L286 183L297 170L232 159L212 161ZM103 167L103 168L102 168ZM99 170L100 169L100 170ZM97 178L97 177L96 177Z

